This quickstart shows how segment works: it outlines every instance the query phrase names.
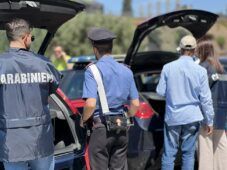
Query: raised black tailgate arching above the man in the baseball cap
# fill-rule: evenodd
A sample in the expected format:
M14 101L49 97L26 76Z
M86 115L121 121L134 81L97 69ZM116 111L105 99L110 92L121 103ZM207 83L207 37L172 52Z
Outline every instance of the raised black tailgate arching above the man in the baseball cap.
M140 55L138 54L138 49L144 38L157 28L163 26L167 26L169 28L182 27L191 32L192 35L198 39L207 33L207 31L216 22L217 18L218 15L202 10L181 10L151 18L137 26L132 43L125 58L125 63L132 65L131 68L134 73L136 73L136 71L140 71L135 70L134 68L138 62L136 58ZM143 61L143 64L146 64L146 66L152 69L151 67L154 66L153 60L148 62L146 59L146 55L140 57L141 62ZM157 58L157 60L162 59Z

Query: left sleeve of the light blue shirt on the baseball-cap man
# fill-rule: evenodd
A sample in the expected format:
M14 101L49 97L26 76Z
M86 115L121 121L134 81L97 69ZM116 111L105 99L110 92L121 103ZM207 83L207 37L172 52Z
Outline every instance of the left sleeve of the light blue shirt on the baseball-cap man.
M166 67L164 66L161 72L160 80L156 88L156 92L158 93L158 95L162 97L166 96L166 79L167 79Z

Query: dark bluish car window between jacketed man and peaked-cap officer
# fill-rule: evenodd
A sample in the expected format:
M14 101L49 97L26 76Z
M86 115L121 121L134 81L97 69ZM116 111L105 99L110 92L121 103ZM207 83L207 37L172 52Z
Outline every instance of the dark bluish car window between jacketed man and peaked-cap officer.
M59 87L70 100L81 99L83 95L84 70L64 71Z

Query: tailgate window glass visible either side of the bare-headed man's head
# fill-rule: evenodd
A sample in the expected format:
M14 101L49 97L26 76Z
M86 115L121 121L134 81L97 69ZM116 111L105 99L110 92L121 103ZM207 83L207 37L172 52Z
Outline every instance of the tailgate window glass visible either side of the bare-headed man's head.
M32 35L35 36L35 41L31 44L31 51L38 52L39 48L46 36L47 30L33 28ZM9 42L6 37L5 30L0 30L0 53L5 52L9 48Z

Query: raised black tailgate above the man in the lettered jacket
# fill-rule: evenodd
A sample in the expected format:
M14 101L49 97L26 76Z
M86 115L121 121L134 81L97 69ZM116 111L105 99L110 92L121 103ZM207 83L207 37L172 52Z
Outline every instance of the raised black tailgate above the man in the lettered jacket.
M69 0L1 0L0 29L13 18L23 18L34 28L46 29L46 37L38 52L44 54L58 28L84 9L83 4Z

